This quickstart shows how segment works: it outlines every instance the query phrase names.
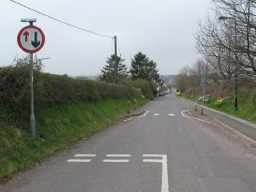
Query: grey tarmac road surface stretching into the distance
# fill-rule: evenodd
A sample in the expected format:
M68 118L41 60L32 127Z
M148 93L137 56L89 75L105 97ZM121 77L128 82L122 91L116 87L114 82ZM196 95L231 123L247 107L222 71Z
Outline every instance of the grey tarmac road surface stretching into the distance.
M2 191L256 192L256 148L167 95L16 176Z

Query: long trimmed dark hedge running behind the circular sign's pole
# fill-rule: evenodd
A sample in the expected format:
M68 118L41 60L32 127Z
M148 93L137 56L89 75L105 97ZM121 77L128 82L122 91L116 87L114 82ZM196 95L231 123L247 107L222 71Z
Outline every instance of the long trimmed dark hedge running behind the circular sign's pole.
M34 72L35 102L72 103L97 101L105 98L132 98L141 96L141 91L129 86L120 86L67 75ZM29 103L29 69L27 67L0 68L0 103Z

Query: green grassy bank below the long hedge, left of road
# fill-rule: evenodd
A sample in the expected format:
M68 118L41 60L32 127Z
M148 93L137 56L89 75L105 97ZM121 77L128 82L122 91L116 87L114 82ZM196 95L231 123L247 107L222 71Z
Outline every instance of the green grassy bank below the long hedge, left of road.
M138 98L138 106L147 101ZM23 126L29 119L0 122L0 180L116 122L125 111L126 102L127 99L105 99L41 106L36 113L37 138L32 138L28 127Z

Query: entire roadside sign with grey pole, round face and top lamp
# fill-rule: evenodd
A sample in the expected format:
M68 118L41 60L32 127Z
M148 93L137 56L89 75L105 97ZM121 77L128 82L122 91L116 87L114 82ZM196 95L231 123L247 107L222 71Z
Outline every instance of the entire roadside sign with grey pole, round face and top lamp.
M36 137L35 113L34 113L34 74L33 74L33 54L39 51L45 44L45 34L42 30L33 25L35 18L20 19L20 22L29 23L22 28L17 36L20 49L30 54L30 127L31 134Z

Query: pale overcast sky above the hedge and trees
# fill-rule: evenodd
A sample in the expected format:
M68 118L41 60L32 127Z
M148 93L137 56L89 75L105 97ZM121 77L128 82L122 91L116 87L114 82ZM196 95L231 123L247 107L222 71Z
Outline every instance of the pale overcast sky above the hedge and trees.
M117 35L118 54L130 66L138 51L158 63L161 74L176 74L200 55L194 34L204 20L209 0L16 0L74 25L95 32ZM98 75L106 57L113 54L111 38L100 37L60 24L9 0L0 1L0 65L9 65L15 55L25 56L16 36L25 23L37 18L46 35L37 55L50 57L44 71L55 74Z

